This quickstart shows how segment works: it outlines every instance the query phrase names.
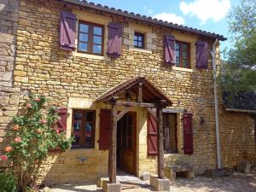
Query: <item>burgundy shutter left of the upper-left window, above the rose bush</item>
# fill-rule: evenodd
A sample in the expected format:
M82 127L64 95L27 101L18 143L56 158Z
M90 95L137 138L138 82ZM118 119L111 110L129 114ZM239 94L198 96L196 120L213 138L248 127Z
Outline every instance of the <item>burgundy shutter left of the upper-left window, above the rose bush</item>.
M60 20L60 49L75 49L76 15L61 11Z

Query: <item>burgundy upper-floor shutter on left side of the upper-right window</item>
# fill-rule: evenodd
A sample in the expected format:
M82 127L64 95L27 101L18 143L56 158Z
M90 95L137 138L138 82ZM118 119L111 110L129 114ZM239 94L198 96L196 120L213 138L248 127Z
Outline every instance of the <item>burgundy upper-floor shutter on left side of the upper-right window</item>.
M174 44L174 37L172 35L166 34L164 39L164 54L166 64L175 63Z

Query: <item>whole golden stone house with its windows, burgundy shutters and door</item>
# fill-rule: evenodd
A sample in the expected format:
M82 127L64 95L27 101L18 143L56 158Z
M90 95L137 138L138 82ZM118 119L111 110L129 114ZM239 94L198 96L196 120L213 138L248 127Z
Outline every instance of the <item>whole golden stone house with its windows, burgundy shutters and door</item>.
M138 177L156 172L154 109L162 100L165 163L189 163L196 174L217 167L210 52L223 36L79 0L0 5L0 147L29 93L60 107L60 129L75 137L72 149L49 155L43 183L108 176L113 98L116 115L123 115L116 130L118 169ZM219 67L219 43L215 48ZM222 166L255 161L255 111L228 112L220 98Z

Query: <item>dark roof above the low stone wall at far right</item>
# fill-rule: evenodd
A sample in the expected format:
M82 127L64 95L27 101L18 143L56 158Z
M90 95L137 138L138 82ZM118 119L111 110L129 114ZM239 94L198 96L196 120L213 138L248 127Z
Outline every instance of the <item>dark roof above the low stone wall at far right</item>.
M256 112L256 93L238 93L236 96L232 96L228 92L223 94L224 107L237 110L248 110Z

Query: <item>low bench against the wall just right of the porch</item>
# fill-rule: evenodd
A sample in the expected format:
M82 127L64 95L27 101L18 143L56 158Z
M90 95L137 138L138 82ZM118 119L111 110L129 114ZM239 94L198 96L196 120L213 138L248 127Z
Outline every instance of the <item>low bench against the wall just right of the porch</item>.
M177 172L182 173L183 177L186 178L194 177L193 166L190 166L189 164L165 166L165 175L170 181L175 180Z

